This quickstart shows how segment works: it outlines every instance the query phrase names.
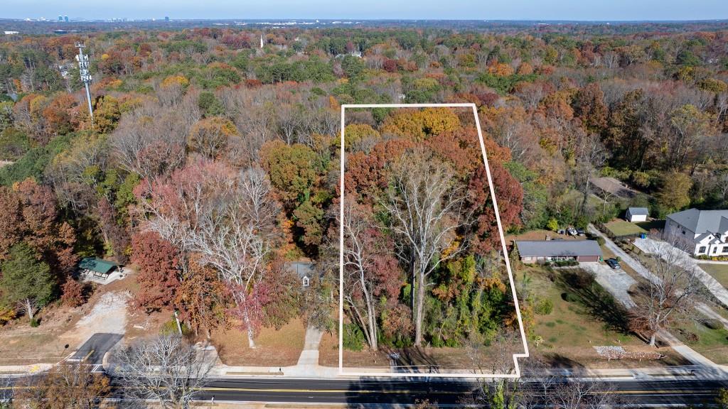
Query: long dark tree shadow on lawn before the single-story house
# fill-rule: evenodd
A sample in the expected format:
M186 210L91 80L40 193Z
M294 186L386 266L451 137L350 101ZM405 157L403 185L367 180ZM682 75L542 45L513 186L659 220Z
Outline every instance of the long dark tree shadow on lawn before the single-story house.
M591 274L581 270L563 270L556 277L556 283L566 292L562 294L565 301L582 307L586 314L603 322L609 330L630 333L627 309L598 285Z

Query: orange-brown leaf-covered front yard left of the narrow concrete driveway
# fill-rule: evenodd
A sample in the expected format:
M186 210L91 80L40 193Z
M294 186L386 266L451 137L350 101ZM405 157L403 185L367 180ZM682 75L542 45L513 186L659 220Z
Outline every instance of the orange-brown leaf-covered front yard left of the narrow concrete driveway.
M248 347L248 335L240 324L226 331L213 332L212 344L220 360L231 366L290 366L296 365L304 350L306 328L301 319L292 319L280 330L263 328L256 337L256 348Z

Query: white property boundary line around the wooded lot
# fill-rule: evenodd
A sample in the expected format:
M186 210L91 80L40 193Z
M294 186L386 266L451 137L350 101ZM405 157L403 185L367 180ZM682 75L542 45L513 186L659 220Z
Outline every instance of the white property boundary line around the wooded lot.
M515 365L515 373L374 373L374 372L344 372L344 223L339 223L339 376L390 376L390 377L430 377L430 378L521 378L521 367L518 366L518 358L529 357L529 344L526 342L526 332L523 330L523 319L521 318L521 308L518 306L518 296L515 293L515 280L513 279L513 271L510 268L510 259L508 258L508 250L505 246L505 236L503 234L503 226L500 221L500 213L498 204L496 203L496 194L491 178L491 169L488 167L488 155L486 154L486 145L483 142L483 130L480 129L480 120L478 119L478 108L474 103L373 103L373 104L344 104L341 106L341 178L339 188L341 191L341 202L339 214L340 220L344 219L344 112L347 108L472 108L472 114L475 116L475 127L478 128L478 140L480 140L480 150L483 151L483 163L486 165L486 175L488 176L488 186L491 190L491 199L493 200L493 210L496 213L496 222L498 223L498 231L500 233L503 255L505 258L505 266L508 271L508 279L510 281L510 289L513 293L513 302L515 303L515 314L518 317L518 327L521 330L521 340L523 341L523 353L513 354L513 364Z

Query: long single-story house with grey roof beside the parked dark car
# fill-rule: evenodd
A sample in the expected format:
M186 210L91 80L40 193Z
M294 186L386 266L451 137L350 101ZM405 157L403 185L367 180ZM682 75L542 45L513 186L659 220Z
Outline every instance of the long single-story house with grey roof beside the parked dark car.
M523 263L569 260L596 263L602 257L596 240L521 240L515 246Z

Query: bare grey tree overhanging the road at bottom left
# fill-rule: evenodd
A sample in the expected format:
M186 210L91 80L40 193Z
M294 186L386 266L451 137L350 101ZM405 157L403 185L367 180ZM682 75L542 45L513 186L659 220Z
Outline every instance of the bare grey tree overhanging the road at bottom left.
M214 360L179 335L162 335L119 349L114 364L113 374L121 379L127 399L186 409L207 383Z

